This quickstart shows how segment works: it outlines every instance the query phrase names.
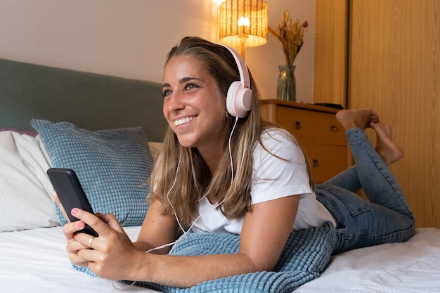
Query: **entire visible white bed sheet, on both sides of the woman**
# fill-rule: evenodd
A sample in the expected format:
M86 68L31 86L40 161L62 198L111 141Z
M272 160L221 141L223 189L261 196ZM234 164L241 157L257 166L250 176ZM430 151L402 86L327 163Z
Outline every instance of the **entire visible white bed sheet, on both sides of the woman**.
M139 228L126 228L131 239ZM61 227L54 227L0 233L0 292L121 291L73 269ZM155 291L132 287L129 292ZM333 256L321 277L295 291L309 292L440 292L440 230L418 228L405 243Z

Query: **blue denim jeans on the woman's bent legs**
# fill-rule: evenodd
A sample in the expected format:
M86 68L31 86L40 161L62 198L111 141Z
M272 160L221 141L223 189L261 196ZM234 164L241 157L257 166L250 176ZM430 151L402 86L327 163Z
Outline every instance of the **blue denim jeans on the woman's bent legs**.
M408 240L415 219L399 184L363 129L349 129L346 135L356 164L315 190L337 223L332 254ZM369 201L356 195L361 188Z

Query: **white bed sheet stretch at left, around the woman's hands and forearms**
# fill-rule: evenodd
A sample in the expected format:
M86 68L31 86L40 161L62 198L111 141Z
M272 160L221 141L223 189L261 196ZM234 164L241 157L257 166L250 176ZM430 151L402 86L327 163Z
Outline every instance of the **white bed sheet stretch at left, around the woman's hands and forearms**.
M135 240L140 227L125 230ZM124 284L114 282L117 287ZM72 268L60 226L0 233L0 292L106 293L121 290L109 280ZM128 292L157 292L131 287Z

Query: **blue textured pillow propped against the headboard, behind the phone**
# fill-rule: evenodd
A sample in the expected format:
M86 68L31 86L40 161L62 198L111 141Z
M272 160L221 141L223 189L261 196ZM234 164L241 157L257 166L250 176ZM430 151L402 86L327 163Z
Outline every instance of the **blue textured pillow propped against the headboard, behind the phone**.
M122 226L142 224L153 158L141 127L88 131L69 122L32 119L31 124L52 166L77 173L93 211L115 214ZM56 212L64 225L57 206Z

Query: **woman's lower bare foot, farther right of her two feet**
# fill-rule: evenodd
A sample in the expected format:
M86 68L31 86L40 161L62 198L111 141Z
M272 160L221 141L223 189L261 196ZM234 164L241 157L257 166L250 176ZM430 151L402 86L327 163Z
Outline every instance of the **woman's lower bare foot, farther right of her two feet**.
M393 132L388 124L371 123L371 128L376 131L376 152L389 165L403 157L403 150L393 141Z

